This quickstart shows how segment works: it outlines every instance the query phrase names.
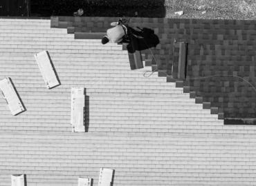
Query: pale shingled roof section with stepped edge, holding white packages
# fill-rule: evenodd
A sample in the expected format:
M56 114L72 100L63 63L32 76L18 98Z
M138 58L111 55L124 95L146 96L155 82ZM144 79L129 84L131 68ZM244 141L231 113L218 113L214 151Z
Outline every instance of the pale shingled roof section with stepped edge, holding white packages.
M255 185L254 126L224 126L179 83L130 70L122 45L50 25L0 19L0 79L11 77L27 109L12 116L0 94L0 185L10 174L29 186L97 185L100 167L116 170L115 186ZM42 50L61 82L51 90L33 56ZM74 86L86 87L86 133L71 132Z

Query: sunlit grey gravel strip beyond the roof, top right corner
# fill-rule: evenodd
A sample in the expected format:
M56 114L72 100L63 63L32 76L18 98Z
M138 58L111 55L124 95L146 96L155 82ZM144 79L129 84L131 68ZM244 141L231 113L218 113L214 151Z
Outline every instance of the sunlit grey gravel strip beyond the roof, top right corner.
M167 18L256 19L255 0L165 0L165 7ZM184 14L174 14L176 11Z

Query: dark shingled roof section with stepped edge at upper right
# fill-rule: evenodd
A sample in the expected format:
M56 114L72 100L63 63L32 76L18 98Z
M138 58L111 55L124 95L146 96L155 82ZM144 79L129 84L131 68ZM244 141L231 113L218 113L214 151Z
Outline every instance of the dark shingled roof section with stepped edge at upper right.
M67 28L68 33L79 35L79 39L99 39L93 34L82 37L82 32L103 34L118 19L52 17L51 27ZM131 27L138 24L140 28L150 28L161 41L151 48L158 63L158 76L168 74L168 82L176 81L171 78L174 56L179 52L174 41L188 42L187 80L176 81L176 86L184 87L184 92L190 93L196 103L203 103L203 108L211 109L219 118L256 118L256 91L249 84L256 85L256 20L134 19L137 23L131 20ZM146 64L155 70L157 65L150 50L143 50L142 54ZM211 77L193 79L205 76Z

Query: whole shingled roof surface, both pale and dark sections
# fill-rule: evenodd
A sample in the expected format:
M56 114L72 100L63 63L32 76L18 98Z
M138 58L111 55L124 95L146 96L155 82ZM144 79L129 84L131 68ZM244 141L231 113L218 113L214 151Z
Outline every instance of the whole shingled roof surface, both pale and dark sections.
M0 96L0 185L11 174L26 174L28 186L77 185L79 176L97 185L101 167L115 169L113 185L256 185L246 83L255 86L255 21L136 18L160 41L158 65L142 50L144 68L131 70L126 44L99 39L117 20L0 19L0 79L12 79L26 107L12 116ZM174 41L188 42L186 81L163 73L172 76ZM43 50L61 82L51 90L34 57ZM163 72L143 76L157 66ZM71 87L86 88L87 132L71 132Z

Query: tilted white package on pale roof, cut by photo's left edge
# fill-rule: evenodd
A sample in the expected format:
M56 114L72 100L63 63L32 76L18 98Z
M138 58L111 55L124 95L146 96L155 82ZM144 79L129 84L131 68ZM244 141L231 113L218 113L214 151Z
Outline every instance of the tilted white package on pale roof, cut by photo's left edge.
M19 96L15 92L15 87L13 87L10 78L7 77L0 81L0 90L3 92L4 99L6 99L10 112L12 112L13 116L25 110Z

